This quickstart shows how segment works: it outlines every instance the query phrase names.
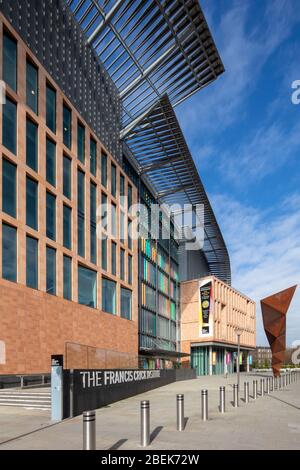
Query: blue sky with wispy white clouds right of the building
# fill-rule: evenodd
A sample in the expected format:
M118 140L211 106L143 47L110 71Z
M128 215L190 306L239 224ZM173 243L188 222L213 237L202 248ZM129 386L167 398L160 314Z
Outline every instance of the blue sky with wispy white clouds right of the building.
M233 285L256 301L300 281L299 0L201 0L225 73L177 115L224 233ZM178 112L179 111L179 112ZM258 344L266 344L258 304ZM300 340L300 288L288 314Z

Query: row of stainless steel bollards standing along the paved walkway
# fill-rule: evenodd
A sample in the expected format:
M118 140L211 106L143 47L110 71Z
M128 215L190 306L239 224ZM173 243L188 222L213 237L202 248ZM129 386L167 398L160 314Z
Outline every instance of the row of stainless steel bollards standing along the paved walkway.
M299 371L289 372L279 377L267 377L260 379L260 396L263 397L275 390L295 383L300 376ZM257 400L258 388L257 380L253 380L253 399ZM225 387L220 387L220 413L226 412L226 390ZM249 403L249 382L244 382L244 402ZM239 387L237 384L233 385L233 407L239 407ZM150 445L150 402L144 400L140 404L141 412L141 446L147 447ZM179 394L176 396L176 414L177 414L177 431L184 431L185 417L184 417L184 395ZM208 391L201 391L201 417L202 421L208 420ZM85 411L83 413L83 450L96 449L96 412Z

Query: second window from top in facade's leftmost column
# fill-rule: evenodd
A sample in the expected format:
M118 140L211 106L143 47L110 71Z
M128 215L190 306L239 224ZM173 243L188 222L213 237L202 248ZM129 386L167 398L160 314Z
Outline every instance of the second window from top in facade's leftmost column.
M17 105L8 96L3 104L2 143L12 153L17 153Z

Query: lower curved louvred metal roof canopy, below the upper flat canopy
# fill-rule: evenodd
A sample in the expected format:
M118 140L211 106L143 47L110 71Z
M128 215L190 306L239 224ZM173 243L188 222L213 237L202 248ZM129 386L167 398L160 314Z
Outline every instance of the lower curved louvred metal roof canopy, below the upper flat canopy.
M228 251L198 170L167 95L131 130L126 143L156 196L168 205L204 205L204 246L211 273L231 283Z

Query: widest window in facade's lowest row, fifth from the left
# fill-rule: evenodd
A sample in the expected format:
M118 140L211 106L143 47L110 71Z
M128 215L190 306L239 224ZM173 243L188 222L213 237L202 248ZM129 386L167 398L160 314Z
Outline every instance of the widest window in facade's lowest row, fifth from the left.
M97 273L78 266L78 303L87 307L97 306Z

